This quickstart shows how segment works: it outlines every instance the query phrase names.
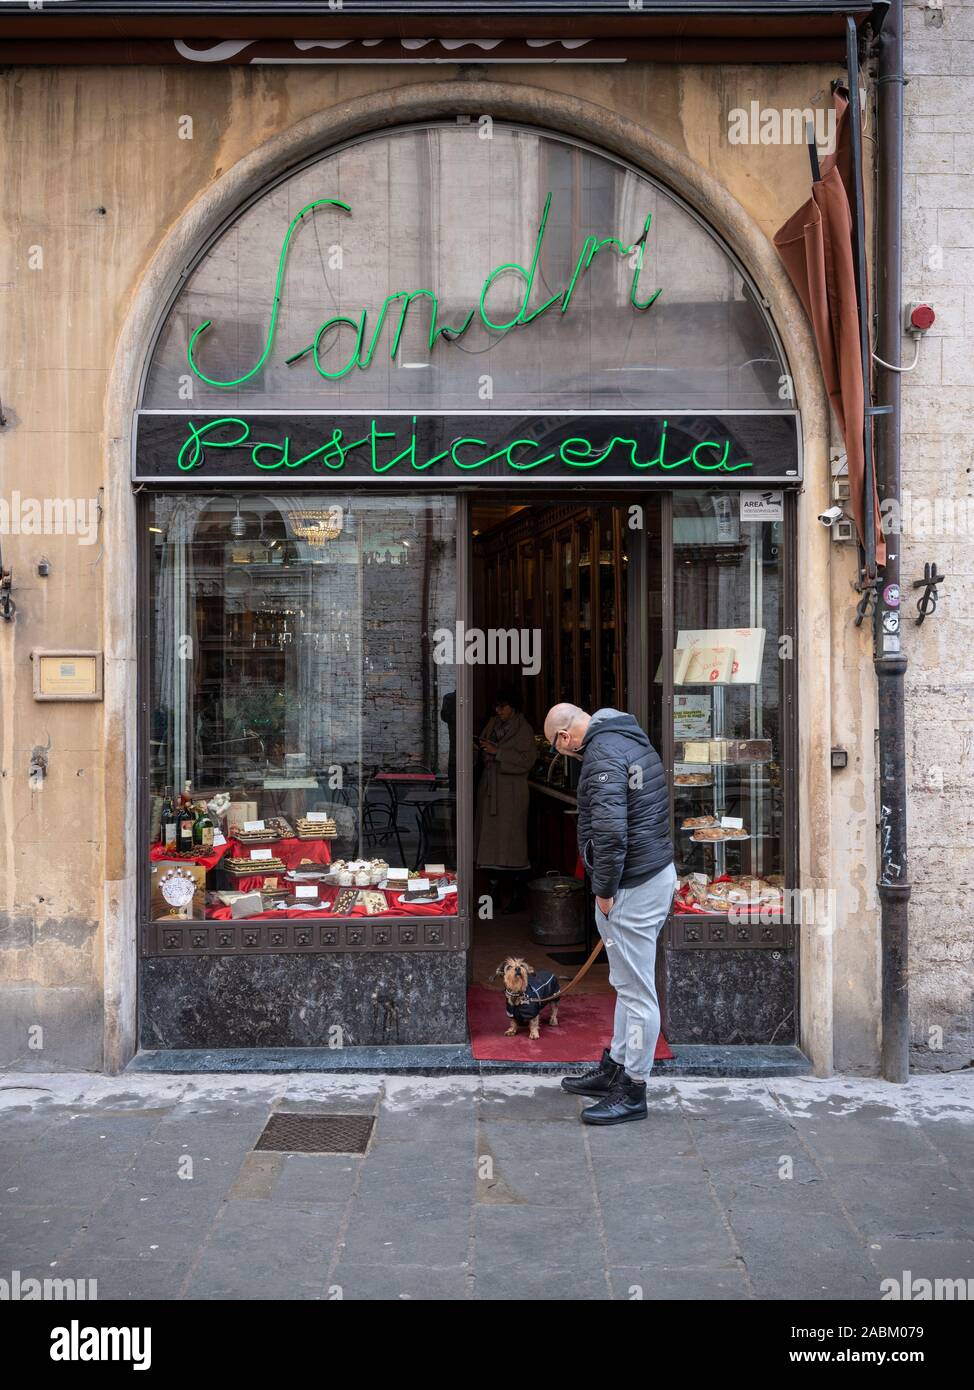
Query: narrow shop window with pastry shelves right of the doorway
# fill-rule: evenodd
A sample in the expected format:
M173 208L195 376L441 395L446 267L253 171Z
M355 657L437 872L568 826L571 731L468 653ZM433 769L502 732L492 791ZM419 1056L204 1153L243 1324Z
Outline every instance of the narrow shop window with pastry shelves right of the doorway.
M782 517L741 495L678 492L674 555L674 809L678 910L784 902ZM763 919L761 919L763 920Z

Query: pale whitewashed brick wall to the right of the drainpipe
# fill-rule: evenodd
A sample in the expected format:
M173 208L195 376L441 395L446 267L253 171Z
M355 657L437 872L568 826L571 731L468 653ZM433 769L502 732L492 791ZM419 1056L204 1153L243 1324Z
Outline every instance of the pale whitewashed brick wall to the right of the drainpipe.
M902 378L910 1017L913 1065L953 1070L974 1059L974 4L910 4L905 33L903 297L936 310ZM928 560L946 582L916 627Z

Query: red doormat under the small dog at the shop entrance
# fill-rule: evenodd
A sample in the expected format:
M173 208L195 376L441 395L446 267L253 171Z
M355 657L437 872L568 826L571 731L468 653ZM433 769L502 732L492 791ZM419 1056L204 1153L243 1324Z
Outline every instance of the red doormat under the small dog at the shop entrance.
M470 1047L478 1062L597 1062L611 1041L614 1012L614 994L571 994L559 1008L557 1029L545 1022L549 1009L542 1017L540 1038L532 1042L527 1026L518 1029L517 1037L504 1037L510 1019L500 990L485 990L482 984L467 990ZM656 1061L671 1056L660 1033Z

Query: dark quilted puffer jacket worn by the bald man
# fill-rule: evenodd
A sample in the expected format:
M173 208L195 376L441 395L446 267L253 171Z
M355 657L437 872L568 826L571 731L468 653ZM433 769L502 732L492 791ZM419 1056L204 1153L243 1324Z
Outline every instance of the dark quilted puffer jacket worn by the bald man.
M578 852L597 898L645 883L672 862L660 755L632 714L597 709L581 746Z

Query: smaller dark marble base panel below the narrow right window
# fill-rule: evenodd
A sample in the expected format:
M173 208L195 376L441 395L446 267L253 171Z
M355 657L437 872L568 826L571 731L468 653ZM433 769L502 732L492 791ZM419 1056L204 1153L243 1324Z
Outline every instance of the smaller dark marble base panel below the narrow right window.
M795 951L667 951L671 1044L795 1042Z

